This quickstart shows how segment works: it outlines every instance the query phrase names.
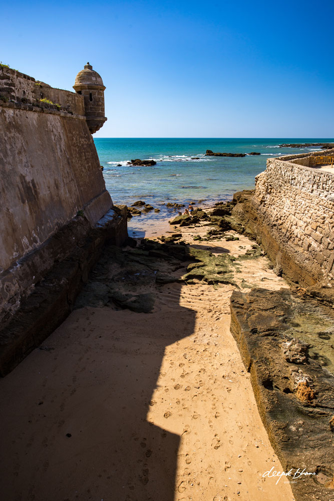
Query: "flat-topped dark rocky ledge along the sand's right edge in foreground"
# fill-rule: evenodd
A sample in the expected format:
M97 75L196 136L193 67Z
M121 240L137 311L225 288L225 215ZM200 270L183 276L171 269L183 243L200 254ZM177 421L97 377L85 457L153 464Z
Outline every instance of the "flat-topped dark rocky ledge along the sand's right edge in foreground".
M332 301L330 290L301 288L231 297L231 332L297 501L333 497Z

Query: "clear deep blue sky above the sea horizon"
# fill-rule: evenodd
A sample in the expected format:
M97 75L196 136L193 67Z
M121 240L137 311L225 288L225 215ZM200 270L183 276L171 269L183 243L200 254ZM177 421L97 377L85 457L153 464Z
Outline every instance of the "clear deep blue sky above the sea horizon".
M332 1L6 4L0 60L73 90L87 61L96 137L334 136Z

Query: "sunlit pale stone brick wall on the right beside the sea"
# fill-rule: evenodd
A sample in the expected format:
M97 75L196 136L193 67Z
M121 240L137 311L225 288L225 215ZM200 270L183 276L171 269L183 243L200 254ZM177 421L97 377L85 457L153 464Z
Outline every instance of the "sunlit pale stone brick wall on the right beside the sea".
M252 205L278 243L277 271L285 253L315 282L326 285L334 279L334 174L308 167L309 158L269 159L256 177Z

